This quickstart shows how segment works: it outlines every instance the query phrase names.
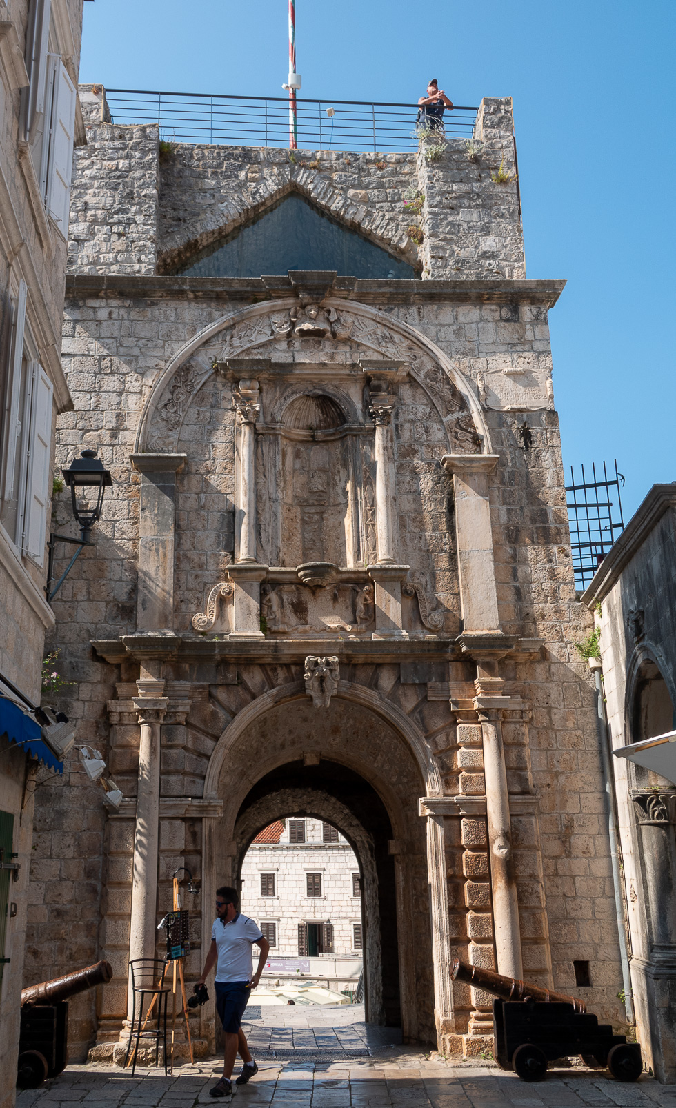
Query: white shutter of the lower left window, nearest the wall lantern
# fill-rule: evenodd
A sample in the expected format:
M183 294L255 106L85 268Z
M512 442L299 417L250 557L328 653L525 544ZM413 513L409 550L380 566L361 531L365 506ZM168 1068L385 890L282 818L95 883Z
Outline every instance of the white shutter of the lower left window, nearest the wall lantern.
M33 375L23 553L42 565L49 504L53 390L52 382L39 362L33 363Z

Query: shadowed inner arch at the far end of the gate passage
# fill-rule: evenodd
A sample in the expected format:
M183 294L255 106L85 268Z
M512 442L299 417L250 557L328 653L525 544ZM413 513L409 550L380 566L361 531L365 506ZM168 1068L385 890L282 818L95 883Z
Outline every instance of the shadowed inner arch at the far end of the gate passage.
M359 861L362 882L362 922L365 926L365 1010L372 1024L388 1022L383 1005L382 943L380 937L380 896L373 834L355 813L330 792L320 788L280 788L243 808L235 824L235 861L238 876L246 851L264 827L287 815L315 817L336 827L348 840ZM391 1016L390 1016L391 1018Z

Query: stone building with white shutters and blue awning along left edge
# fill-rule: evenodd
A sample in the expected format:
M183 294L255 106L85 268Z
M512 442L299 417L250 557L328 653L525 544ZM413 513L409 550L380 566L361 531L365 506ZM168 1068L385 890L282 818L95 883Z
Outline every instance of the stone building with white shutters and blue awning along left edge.
M13 1104L42 740L53 429L61 365L82 0L0 2L0 1105ZM42 769L39 769L42 767ZM10 869L17 866L17 869Z

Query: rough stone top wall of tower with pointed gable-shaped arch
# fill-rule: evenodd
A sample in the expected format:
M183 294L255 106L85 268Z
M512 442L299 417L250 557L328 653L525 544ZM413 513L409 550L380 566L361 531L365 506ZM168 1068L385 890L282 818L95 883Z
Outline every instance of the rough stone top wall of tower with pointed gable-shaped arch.
M186 143L172 143L160 162L158 127L111 123L91 88L88 146L74 163L71 273L176 273L296 191L423 279L525 275L516 178L491 181L501 163L515 174L510 99L482 102L478 162L459 138L434 163L424 144L414 155ZM404 203L417 197L421 213Z

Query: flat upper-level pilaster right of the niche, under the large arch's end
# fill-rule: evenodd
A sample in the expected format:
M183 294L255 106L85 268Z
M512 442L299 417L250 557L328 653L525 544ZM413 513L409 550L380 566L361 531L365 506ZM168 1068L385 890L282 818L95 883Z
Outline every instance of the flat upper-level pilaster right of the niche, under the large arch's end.
M500 619L488 475L498 454L445 454L441 464L453 475L463 632L494 634Z

